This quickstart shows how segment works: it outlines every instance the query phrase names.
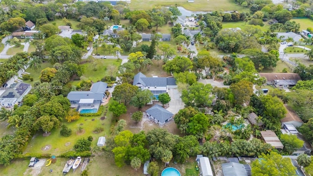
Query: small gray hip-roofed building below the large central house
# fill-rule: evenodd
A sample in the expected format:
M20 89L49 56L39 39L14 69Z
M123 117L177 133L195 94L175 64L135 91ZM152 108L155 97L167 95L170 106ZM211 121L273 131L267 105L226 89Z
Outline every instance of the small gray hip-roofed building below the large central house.
M173 119L174 114L168 110L165 110L160 105L155 105L146 110L149 119L153 119L159 125L164 125L166 122Z

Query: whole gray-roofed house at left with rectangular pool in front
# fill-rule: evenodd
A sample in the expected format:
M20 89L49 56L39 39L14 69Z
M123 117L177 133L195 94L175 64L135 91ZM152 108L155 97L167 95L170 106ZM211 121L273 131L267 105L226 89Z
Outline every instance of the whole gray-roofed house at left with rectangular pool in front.
M97 82L92 84L89 91L71 91L67 94L70 106L77 108L79 111L83 109L99 108L105 98L105 91L108 87L107 83Z

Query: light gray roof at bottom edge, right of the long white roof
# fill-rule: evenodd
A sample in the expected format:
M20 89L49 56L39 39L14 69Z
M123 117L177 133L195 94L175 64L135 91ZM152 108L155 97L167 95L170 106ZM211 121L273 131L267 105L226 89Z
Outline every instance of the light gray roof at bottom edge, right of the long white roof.
M248 176L243 164L240 163L224 163L222 164L222 170L224 176Z

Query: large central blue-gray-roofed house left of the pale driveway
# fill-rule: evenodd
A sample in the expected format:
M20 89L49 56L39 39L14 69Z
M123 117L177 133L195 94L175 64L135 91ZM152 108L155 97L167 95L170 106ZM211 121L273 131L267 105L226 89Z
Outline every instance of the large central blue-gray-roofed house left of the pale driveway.
M141 89L149 89L157 98L159 94L166 93L169 88L177 88L175 78L164 78L164 77L146 77L141 72L134 76L134 86Z

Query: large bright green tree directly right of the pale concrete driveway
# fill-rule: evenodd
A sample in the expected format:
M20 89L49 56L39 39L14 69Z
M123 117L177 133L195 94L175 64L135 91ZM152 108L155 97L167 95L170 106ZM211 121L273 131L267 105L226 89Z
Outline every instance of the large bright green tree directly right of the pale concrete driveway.
M212 103L211 89L210 84L194 83L187 90L182 90L181 99L186 106L206 107Z

